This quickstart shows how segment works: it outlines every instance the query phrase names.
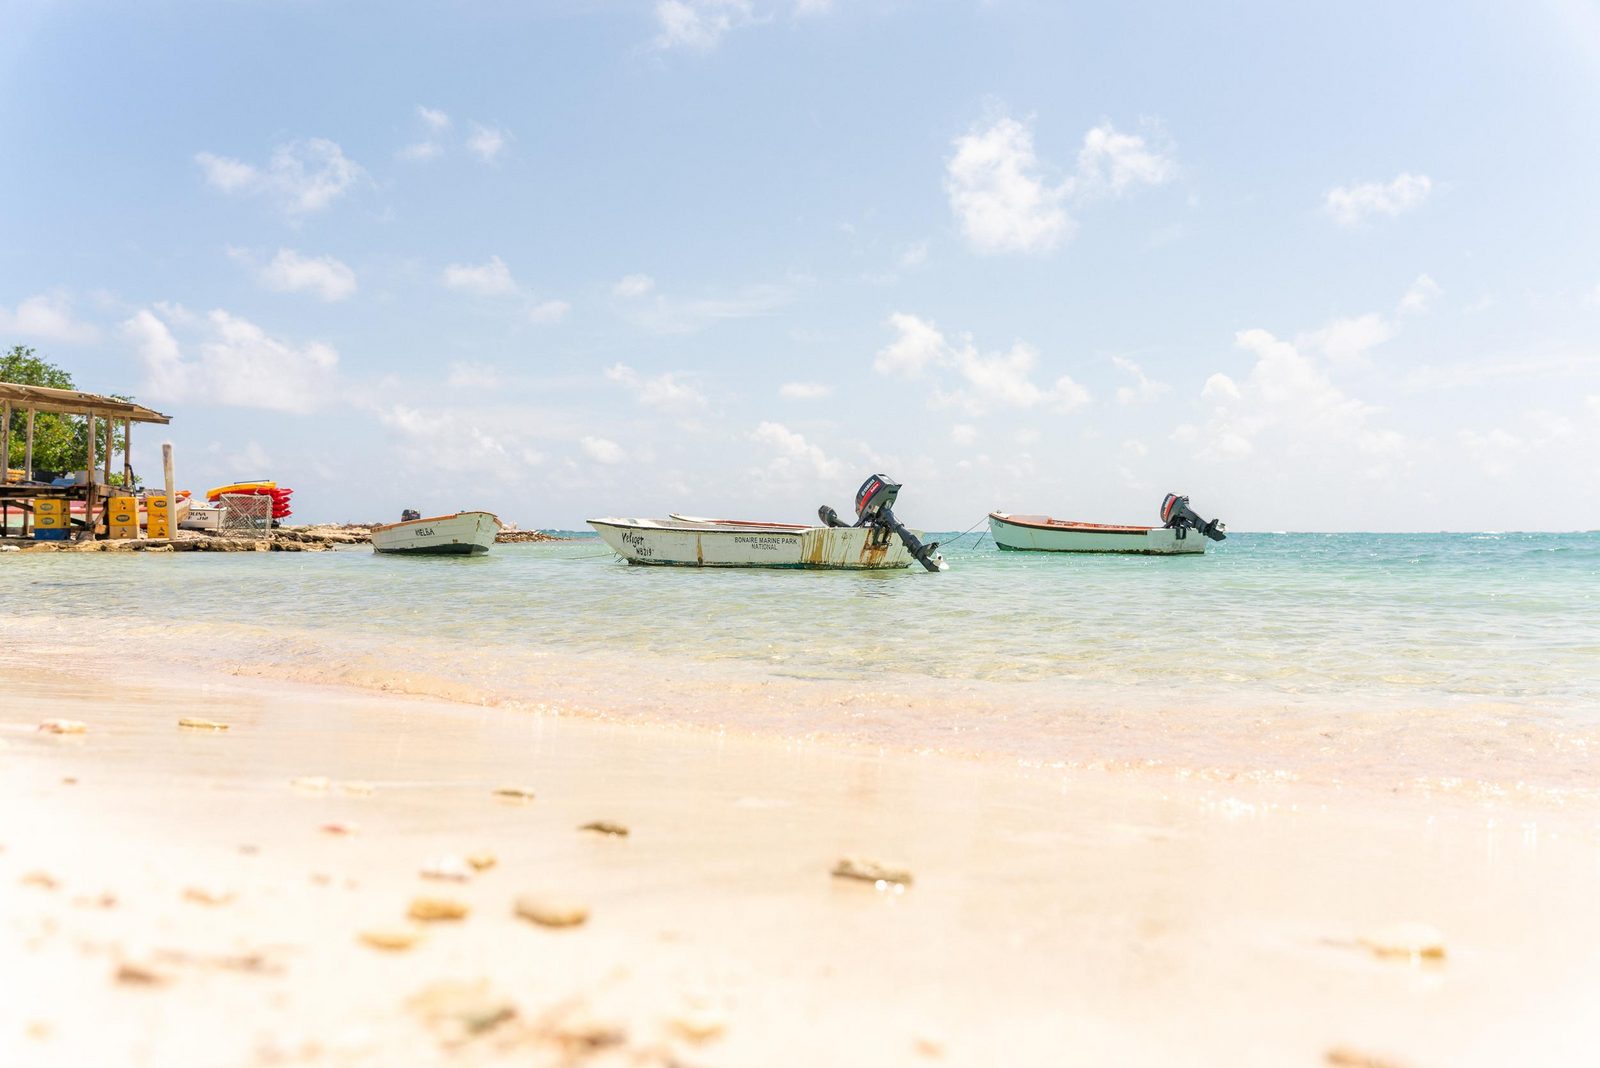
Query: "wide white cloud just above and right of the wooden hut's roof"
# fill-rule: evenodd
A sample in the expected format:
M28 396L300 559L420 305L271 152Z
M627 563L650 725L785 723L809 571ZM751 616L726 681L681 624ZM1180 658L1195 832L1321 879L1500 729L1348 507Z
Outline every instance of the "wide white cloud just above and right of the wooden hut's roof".
M123 323L144 363L141 395L150 400L309 412L334 385L339 353L326 344L296 345L221 309L195 328L198 355L186 358L166 321L141 309Z

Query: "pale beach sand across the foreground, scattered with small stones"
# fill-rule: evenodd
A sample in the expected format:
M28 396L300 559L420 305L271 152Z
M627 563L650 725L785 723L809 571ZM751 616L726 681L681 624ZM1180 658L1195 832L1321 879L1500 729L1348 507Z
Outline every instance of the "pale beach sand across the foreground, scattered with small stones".
M3 1065L1421 1068L1584 1063L1600 1036L1589 806L221 675L0 681ZM419 875L483 851L467 881ZM914 881L832 878L845 855ZM587 923L536 926L523 895ZM360 940L418 897L470 913ZM1398 921L1443 959L1362 945Z

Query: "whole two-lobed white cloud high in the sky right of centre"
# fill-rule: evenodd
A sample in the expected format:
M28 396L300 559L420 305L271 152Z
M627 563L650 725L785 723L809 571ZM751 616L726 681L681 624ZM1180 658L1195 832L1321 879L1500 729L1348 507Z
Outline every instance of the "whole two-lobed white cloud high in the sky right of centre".
M1110 123L1083 134L1077 169L1061 177L1035 153L1032 128L1010 115L957 137L944 189L968 245L986 254L1048 253L1077 230L1069 203L1122 197L1178 173L1165 149Z

